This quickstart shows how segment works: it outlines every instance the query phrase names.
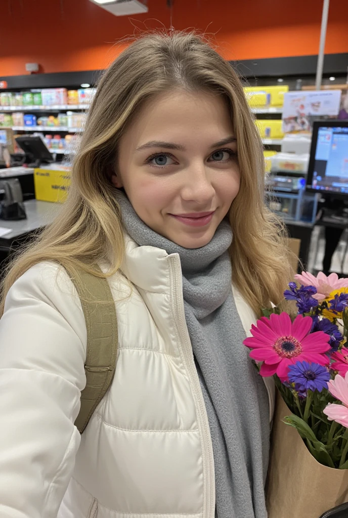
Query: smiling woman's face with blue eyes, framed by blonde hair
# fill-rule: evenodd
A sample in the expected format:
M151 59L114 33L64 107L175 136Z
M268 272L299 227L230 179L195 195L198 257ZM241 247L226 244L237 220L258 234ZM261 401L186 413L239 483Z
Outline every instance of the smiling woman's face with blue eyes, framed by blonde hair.
M117 174L139 218L184 248L204 247L239 191L226 101L173 91L145 103L120 140Z

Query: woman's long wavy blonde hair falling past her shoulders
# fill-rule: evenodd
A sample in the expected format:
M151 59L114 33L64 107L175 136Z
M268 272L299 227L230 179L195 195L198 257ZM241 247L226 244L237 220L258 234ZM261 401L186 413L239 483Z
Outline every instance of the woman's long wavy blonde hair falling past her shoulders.
M257 313L270 300L281 299L291 267L279 222L264 204L262 144L240 80L204 37L163 32L142 35L105 71L72 164L64 210L12 261L2 285L1 313L13 282L41 261L93 272L98 261L111 257L108 275L120 268L123 229L110 181L118 141L144 100L173 88L210 91L227 99L241 177L229 212L233 281Z

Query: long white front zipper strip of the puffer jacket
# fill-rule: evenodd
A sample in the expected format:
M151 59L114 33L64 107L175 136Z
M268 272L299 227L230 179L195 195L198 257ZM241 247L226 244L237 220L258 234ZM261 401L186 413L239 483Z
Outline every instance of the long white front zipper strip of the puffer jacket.
M197 423L200 434L203 464L203 518L214 518L215 516L215 473L213 448L211 443L208 415L200 388L197 369L194 362L192 344L185 321L185 312L182 297L182 277L180 258L177 254L168 255L171 268L171 285L175 297L176 311L173 311L173 318L178 329L179 337L182 339L182 352L186 370L189 375L191 389L196 403Z

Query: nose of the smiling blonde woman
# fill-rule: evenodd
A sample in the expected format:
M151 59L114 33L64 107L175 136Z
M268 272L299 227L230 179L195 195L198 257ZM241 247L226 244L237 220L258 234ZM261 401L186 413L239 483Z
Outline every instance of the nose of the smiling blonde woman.
M215 189L204 163L192 164L183 171L181 197L185 202L196 202L199 206L208 206L214 194Z

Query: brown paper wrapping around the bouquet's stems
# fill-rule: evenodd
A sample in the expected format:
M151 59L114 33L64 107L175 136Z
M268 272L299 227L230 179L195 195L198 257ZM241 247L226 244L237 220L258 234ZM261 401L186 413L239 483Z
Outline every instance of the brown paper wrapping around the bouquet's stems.
M348 501L348 469L319 464L298 431L282 422L292 412L277 394L266 487L269 518L320 518Z

